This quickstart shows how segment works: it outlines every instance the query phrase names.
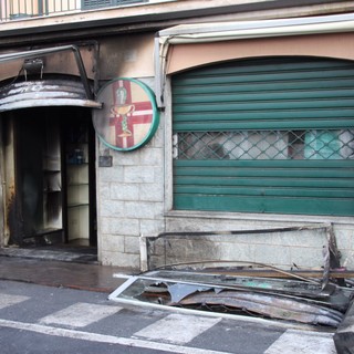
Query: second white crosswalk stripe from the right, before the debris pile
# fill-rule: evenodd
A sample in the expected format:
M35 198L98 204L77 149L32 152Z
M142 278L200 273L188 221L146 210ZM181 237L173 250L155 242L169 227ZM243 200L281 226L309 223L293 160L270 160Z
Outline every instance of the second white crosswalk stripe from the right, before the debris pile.
M170 314L135 333L135 336L152 341L185 344L209 330L221 319Z

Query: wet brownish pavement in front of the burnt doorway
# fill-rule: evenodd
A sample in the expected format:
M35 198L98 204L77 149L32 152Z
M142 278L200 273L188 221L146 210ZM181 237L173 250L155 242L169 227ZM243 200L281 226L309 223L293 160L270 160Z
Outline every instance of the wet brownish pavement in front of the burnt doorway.
M110 293L129 274L118 267L101 266L90 252L66 249L0 249L0 279Z

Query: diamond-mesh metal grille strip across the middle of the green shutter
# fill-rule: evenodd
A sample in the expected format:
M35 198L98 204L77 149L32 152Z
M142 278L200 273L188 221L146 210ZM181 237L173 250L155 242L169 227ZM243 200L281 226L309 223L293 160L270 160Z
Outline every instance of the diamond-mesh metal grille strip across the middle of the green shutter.
M174 158L353 159L353 129L188 132L174 135Z

